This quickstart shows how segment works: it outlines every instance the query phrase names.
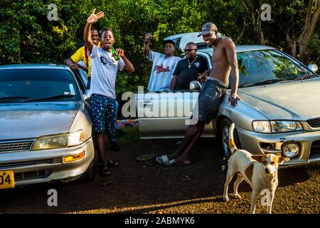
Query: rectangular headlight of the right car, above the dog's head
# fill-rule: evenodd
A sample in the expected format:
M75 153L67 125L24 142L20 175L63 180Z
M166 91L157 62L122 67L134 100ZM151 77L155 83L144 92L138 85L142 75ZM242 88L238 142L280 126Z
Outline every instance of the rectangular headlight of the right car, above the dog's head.
M255 120L252 128L257 133L287 133L304 130L301 123L292 120Z

